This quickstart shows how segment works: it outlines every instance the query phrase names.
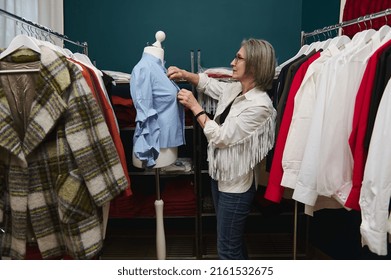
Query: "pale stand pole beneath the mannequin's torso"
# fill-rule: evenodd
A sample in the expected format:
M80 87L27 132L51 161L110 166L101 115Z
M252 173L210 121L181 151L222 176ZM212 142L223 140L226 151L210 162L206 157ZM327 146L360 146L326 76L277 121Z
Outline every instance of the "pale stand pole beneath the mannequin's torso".
M156 180L156 253L158 260L166 259L166 238L164 234L163 206L164 202L160 198L160 168L155 169Z

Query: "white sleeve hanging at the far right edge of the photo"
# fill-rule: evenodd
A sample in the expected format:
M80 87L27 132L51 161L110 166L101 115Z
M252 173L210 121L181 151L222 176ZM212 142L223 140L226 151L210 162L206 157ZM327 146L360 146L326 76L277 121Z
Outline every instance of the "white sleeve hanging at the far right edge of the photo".
M391 197L391 83L383 93L372 132L360 194L362 245L387 255Z

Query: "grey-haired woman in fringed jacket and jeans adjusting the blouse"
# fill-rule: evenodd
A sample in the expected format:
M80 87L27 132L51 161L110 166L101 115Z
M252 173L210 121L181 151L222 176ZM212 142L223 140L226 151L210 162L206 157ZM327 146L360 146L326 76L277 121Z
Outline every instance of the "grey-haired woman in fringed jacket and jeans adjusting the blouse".
M208 140L219 258L246 259L244 228L257 187L254 171L260 170L259 163L274 143L276 111L266 93L274 78L274 49L264 40L244 40L231 66L238 82L220 82L174 66L167 75L187 80L199 94L218 100L211 120L191 91L178 93Z

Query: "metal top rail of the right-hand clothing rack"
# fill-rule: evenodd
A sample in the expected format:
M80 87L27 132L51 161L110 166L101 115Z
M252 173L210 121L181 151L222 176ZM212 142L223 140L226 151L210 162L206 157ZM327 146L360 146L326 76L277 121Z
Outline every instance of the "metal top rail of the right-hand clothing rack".
M380 12L377 12L377 13L373 13L373 14L362 16L362 17L358 17L356 19L343 21L343 22L340 22L340 23L335 24L335 25L326 26L326 27L323 27L321 29L316 29L316 30L314 30L312 32L306 33L304 31L302 31L301 32L301 45L305 44L305 40L308 37L317 36L319 34L327 33L327 32L330 32L332 30L336 30L336 29L339 29L339 28L344 28L346 26L353 25L353 24L360 24L360 22L364 22L365 23L366 21L372 21L373 19L380 18L380 17L386 17L386 19L387 19L387 15L390 15L390 14L391 14L391 8L383 10L383 11L380 11Z

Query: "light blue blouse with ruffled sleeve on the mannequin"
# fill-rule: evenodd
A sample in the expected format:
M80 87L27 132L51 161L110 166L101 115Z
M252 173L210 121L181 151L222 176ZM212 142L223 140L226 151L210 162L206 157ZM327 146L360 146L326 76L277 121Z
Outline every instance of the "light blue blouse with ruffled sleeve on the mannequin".
M143 53L131 73L130 94L137 112L133 153L147 168L155 166L160 148L185 144L184 108L177 101L179 87L166 72L159 58Z

